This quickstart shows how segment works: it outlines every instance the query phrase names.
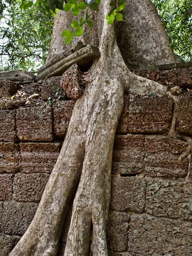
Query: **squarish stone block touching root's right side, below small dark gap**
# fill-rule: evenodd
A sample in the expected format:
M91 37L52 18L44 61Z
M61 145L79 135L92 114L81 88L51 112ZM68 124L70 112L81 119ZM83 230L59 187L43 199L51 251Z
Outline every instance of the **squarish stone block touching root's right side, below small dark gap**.
M119 211L143 212L145 183L144 178L112 177L110 208Z

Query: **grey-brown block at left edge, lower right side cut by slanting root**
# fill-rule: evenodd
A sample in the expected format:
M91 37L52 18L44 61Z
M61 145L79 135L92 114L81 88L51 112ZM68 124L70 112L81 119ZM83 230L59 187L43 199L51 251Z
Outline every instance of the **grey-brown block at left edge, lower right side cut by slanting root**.
M37 210L37 203L4 202L1 233L23 235Z

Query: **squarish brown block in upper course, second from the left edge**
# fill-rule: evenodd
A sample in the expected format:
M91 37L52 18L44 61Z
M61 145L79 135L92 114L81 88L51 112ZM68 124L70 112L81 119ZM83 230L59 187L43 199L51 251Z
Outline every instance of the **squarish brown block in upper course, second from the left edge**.
M50 107L20 108L16 114L17 137L21 141L52 141Z

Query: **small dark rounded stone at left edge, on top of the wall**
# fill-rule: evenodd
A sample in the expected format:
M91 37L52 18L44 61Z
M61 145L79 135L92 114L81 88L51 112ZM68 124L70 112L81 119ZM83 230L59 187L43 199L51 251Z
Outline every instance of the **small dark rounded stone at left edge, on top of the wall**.
M1 72L0 72L1 73ZM17 84L12 81L0 81L0 98L11 97L17 92Z

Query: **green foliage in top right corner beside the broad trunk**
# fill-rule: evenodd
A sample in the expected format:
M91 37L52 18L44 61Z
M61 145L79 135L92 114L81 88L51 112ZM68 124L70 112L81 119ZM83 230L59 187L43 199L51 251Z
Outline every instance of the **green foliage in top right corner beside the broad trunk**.
M192 60L192 1L152 0L166 29L174 52Z

